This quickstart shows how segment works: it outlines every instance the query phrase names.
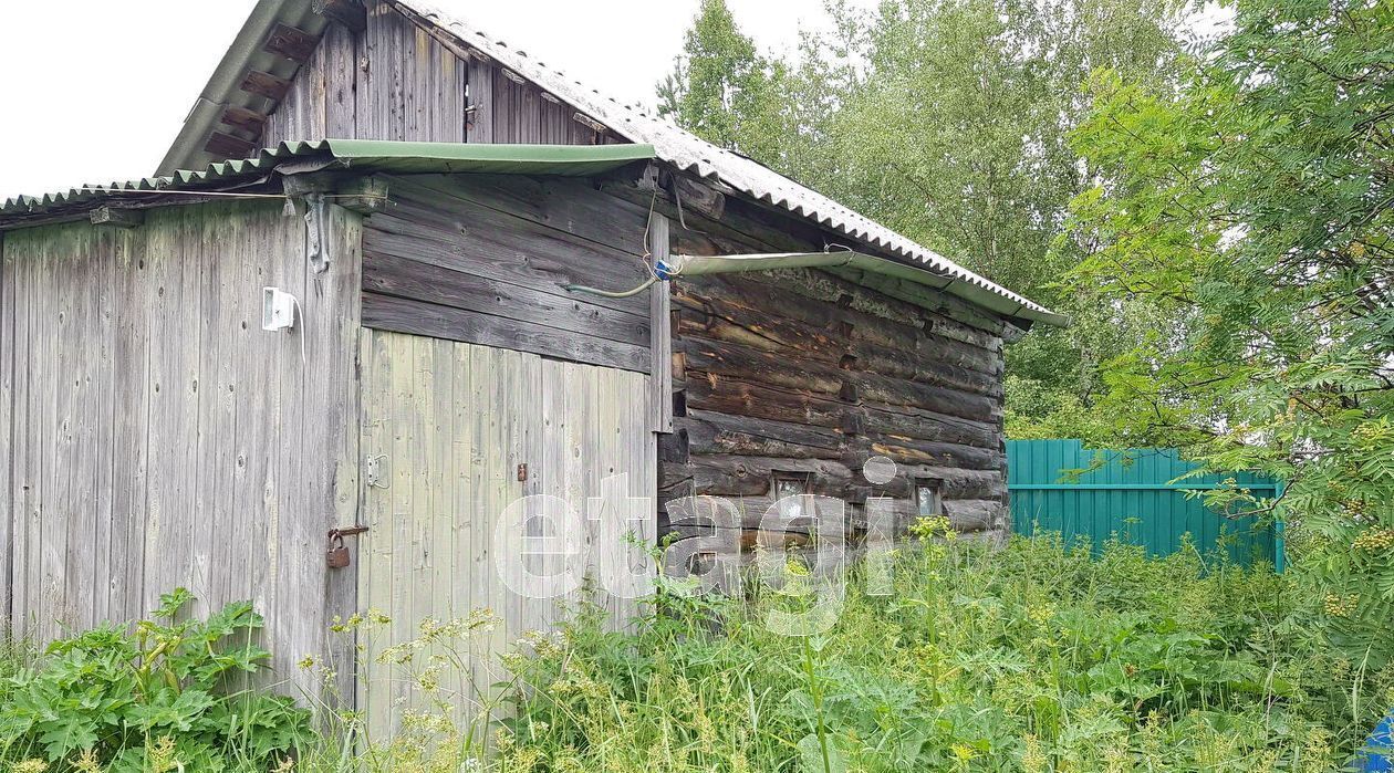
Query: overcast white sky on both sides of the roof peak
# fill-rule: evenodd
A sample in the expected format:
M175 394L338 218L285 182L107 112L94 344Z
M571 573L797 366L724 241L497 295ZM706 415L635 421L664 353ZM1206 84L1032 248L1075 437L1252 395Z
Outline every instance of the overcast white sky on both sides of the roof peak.
M435 0L622 102L654 103L698 0ZM765 50L822 0L728 0ZM871 7L874 0L855 6ZM155 171L255 0L0 0L0 198Z

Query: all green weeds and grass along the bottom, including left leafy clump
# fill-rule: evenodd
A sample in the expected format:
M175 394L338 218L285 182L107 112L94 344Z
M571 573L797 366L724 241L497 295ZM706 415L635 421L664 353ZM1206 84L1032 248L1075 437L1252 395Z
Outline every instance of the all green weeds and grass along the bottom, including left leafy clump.
M220 689L265 662L245 635L259 620L237 604L173 624L174 595L132 635L0 656L0 772L1316 772L1394 702L1394 671L1331 648L1309 624L1323 600L1266 567L913 531L891 592L853 572L813 637L767 625L815 600L797 561L746 599L659 578L630 632L581 604L563 631L524 635L492 685L468 666L487 613L424 621L358 664L410 684L393 738L328 708L321 726L353 737L312 735L289 701Z

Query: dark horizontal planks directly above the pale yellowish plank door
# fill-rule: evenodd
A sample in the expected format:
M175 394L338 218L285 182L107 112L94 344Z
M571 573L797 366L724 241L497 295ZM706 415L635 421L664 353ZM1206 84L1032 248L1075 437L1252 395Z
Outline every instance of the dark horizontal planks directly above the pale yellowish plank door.
M569 292L644 280L647 212L584 180L386 178L367 220L362 322L650 372L650 299Z

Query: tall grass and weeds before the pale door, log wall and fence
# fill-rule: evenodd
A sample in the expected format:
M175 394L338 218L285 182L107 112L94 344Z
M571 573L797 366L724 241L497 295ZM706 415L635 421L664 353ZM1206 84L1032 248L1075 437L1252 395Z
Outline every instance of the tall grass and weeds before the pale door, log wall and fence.
M415 677L399 735L355 748L326 734L294 769L1331 770L1394 705L1394 673L1326 648L1308 625L1320 602L1266 568L1119 542L1092 557L1050 536L988 552L941 522L920 536L895 556L891 593L855 574L814 637L767 625L810 603L792 592L815 582L799 565L747 599L662 579L630 632L583 606L505 657L512 681L473 721L442 684L470 678L449 652L487 617L431 623L392 650ZM20 765L0 741L0 772Z

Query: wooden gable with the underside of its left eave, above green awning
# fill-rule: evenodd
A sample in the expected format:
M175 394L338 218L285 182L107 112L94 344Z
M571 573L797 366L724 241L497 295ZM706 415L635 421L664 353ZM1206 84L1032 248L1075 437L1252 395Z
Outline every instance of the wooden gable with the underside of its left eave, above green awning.
M322 31L273 24L202 149L244 157L297 139L591 145L619 142L485 52L461 47L390 0L316 3ZM361 19L347 8L360 8ZM358 24L361 21L361 25ZM305 24L305 26L315 26ZM241 102L241 104L236 103Z

